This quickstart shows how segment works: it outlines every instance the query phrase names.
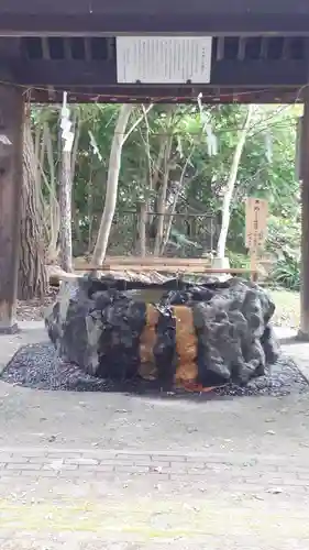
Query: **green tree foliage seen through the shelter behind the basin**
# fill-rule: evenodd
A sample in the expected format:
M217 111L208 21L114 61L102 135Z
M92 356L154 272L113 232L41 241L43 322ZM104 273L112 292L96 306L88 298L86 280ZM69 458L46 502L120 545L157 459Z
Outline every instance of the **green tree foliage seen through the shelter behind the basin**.
M213 215L214 245L220 228L220 210L229 177L239 131L243 124L245 106L155 106L147 116L143 106L136 106L129 129L141 121L126 140L121 162L117 217L111 242L120 242L123 250L132 248L134 216L137 201L148 200L155 209L163 168L158 184L151 189L151 175L156 169L159 151L172 140L168 158L168 200L181 182L176 211ZM71 107L79 120L80 138L76 155L73 187L75 252L91 251L104 204L110 147L119 106L92 105ZM271 218L267 251L278 256L278 280L284 277L280 254L299 249L299 184L295 179L295 139L299 108L296 106L256 106L241 165L235 195L231 205L228 249L232 266L247 266L244 246L244 199L246 196L266 198ZM33 128L47 123L53 138L55 166L58 163L59 110L34 108ZM90 144L89 132L95 138L99 157ZM48 172L48 166L45 166ZM57 177L57 172L56 176ZM170 206L170 204L168 204ZM120 228L121 226L121 228ZM188 240L190 235L186 235ZM117 244L119 251L119 244ZM293 251L293 252L291 252ZM289 270L291 263L288 264ZM282 270L279 272L279 268ZM287 270L288 271L288 270ZM296 272L296 270L295 270Z

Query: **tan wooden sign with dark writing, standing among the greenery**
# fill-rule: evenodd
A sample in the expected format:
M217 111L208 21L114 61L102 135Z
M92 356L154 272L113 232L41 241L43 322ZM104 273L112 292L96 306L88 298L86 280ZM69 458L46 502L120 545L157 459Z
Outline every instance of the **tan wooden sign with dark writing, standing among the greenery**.
M251 251L263 246L267 234L268 202L250 197L245 206L245 245Z

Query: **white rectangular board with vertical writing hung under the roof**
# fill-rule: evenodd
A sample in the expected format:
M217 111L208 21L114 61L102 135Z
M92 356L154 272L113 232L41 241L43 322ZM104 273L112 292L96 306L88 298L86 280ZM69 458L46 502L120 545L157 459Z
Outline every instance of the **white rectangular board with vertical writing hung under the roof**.
M209 84L211 36L118 36L119 84Z

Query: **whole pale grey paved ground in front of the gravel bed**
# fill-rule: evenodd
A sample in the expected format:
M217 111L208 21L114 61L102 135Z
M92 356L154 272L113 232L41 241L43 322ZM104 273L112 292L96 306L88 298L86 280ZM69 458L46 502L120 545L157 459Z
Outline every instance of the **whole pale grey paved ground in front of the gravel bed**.
M0 549L308 550L308 417L0 383Z

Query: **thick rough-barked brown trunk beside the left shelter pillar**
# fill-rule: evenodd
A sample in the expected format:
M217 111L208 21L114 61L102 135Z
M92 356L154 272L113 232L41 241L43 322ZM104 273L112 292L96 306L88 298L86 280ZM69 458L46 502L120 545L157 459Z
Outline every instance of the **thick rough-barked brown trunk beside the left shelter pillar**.
M19 266L20 300L42 299L47 290L41 205L36 193L37 160L29 117L24 124L21 244Z

